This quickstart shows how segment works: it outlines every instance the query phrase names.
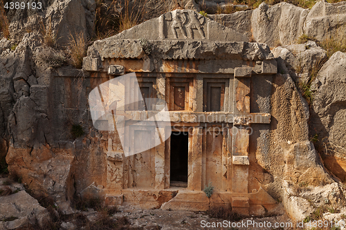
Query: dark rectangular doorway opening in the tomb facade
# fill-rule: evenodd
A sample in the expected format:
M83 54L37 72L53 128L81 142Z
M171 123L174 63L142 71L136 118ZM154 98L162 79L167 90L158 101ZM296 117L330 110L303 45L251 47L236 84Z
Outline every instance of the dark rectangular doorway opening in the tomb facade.
M187 132L172 132L170 156L170 186L188 186L188 147Z

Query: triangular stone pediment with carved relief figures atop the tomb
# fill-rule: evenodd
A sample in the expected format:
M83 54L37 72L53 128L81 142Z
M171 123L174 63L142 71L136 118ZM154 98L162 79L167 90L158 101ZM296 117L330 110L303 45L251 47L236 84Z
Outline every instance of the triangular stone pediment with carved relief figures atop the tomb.
M193 10L174 10L109 39L248 41L248 37Z

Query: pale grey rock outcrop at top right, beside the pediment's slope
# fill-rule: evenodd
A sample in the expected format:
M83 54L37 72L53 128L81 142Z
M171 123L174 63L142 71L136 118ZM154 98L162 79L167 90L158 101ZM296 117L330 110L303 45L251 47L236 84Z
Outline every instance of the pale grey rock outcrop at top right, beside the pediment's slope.
M274 6L262 3L255 10L235 12L232 15L208 15L257 42L275 47L295 44L306 34L322 41L341 39L346 30L346 3L319 1L309 9L280 2Z

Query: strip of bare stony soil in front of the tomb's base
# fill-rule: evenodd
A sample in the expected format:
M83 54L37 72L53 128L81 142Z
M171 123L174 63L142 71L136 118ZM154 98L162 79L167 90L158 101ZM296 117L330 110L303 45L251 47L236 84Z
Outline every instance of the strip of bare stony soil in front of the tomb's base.
M166 211L161 209L139 210L119 207L119 212L116 213L114 217L120 218L122 215L127 216L129 222L133 224L133 227L143 227L143 229L299 229L295 228L296 223L292 222L286 215L277 215L265 218L246 218L237 222L228 222L228 220L225 221L221 219L210 218L206 212ZM207 222L210 223L210 227L207 227ZM218 222L226 224L224 224L224 226L221 226L221 224L219 224L219 227L217 227L216 224ZM246 223L250 222L257 223L257 227L252 224L246 225ZM215 224L215 227L212 227L213 223ZM275 223L279 224L276 228ZM292 224L292 227L289 226L289 223ZM286 226L280 227L280 224L285 224Z

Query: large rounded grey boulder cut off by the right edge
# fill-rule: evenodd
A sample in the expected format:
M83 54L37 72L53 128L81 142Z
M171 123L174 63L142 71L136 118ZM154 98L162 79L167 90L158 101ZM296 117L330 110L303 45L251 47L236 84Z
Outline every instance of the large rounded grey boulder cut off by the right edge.
M311 85L310 131L318 135L318 151L325 166L346 178L346 53L336 52L322 66Z

